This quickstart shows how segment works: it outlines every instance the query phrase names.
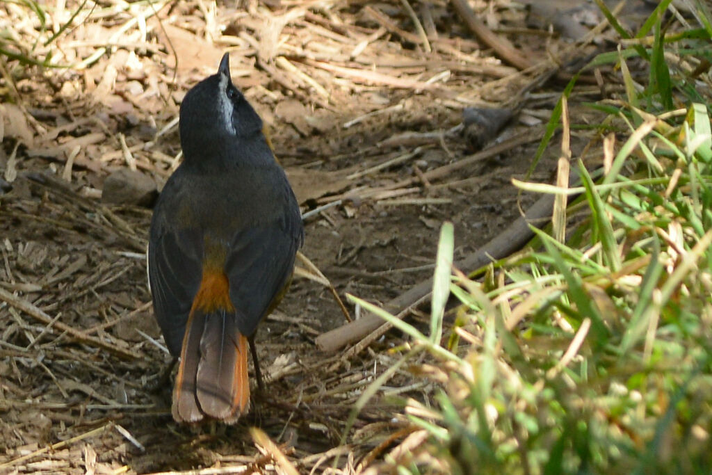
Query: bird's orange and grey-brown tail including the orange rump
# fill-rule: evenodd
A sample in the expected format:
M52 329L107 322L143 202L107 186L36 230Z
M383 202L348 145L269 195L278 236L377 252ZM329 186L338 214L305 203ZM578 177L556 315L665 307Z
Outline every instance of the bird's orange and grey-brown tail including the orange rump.
M248 340L237 329L226 276L204 271L183 338L173 418L236 422L250 405L247 352Z

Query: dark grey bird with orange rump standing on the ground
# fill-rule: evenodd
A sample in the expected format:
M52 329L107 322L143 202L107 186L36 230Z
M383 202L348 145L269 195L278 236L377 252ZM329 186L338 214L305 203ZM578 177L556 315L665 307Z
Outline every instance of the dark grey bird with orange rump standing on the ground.
M263 121L232 83L229 53L184 96L183 160L151 219L155 318L179 358L177 422L234 424L250 405L247 351L286 293L304 241L300 208Z

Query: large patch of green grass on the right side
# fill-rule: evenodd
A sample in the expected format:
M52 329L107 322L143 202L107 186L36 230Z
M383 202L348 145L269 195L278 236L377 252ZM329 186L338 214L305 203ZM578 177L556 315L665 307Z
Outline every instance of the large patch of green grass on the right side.
M625 86L619 100L591 105L607 114L601 137L618 131L607 165L594 173L572 163L580 186L571 189L518 183L579 195L575 227L535 230L528 250L479 283L458 271L443 277L452 262L446 224L429 335L352 298L439 367L431 405L404 404L427 437L387 459L398 473L711 473L711 80L669 58L711 61L712 17L698 1L689 20L697 25L671 33L669 4L640 31L614 23L640 43L588 66L613 64ZM634 57L649 66L644 84L629 73ZM575 79L563 95L572 90ZM540 152L565 107L554 110ZM441 338L448 294L461 306Z

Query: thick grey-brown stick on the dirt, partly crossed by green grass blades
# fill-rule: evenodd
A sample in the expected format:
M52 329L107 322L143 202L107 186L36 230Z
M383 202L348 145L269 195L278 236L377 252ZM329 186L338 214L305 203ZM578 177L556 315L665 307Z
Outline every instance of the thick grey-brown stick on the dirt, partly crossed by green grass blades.
M495 236L465 259L456 262L455 265L465 271L474 271L521 249L534 236L533 231L529 229L529 225L541 228L551 219L554 198L555 195L546 194L538 199L525 212L524 216L519 216L501 234ZM386 303L384 308L391 313L398 313L402 308L412 306L417 301L420 301L420 303L429 301L432 286L432 278L417 283L405 293ZM402 316L405 316L404 314L402 313ZM380 317L370 313L358 320L319 335L315 343L320 350L333 352L345 345L361 340L375 330L379 330L379 333L385 333L388 328Z

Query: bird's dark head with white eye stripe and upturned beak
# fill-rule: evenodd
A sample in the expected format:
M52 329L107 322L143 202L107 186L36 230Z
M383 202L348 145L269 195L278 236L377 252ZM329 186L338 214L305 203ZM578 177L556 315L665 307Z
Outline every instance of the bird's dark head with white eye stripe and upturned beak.
M228 158L239 142L262 138L262 120L232 83L228 53L216 74L201 80L185 95L179 129L184 160L188 162Z

